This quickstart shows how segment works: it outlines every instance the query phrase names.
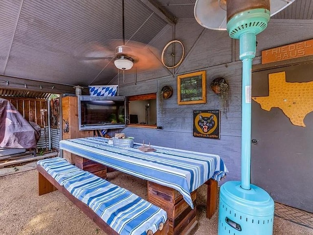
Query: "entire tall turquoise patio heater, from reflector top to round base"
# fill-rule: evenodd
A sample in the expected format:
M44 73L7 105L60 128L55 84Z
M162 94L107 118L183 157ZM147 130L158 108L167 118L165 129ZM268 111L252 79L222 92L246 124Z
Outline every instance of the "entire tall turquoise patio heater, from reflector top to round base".
M197 0L194 14L202 26L226 30L239 39L242 71L241 182L228 181L220 189L219 235L272 235L274 201L250 184L251 163L251 76L256 54L256 35L268 25L271 15L293 0ZM269 10L273 14L270 14Z

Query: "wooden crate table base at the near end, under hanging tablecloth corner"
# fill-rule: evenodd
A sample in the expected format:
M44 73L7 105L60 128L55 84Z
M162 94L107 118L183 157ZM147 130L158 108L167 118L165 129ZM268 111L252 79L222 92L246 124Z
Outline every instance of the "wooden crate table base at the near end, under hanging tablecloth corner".
M170 221L169 235L188 235L196 227L197 191L191 193L194 210L185 202L182 195L173 188L148 181L148 201L167 212Z

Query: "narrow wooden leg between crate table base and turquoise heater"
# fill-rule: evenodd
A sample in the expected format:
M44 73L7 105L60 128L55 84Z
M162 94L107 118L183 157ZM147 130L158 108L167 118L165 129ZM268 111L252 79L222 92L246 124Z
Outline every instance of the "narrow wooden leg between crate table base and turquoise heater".
M206 218L212 218L217 209L217 181L209 179L207 185Z

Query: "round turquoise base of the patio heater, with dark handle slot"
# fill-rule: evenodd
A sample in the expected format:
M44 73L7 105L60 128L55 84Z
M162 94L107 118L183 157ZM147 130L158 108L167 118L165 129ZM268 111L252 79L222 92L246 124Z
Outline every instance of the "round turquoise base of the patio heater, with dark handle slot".
M220 189L219 235L273 234L274 201L255 185L241 188L240 181L224 183Z

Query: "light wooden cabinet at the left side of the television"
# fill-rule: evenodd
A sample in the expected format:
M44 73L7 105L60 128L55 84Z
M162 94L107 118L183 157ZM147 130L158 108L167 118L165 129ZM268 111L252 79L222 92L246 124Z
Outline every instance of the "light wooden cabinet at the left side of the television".
M93 136L93 131L80 131L78 128L78 99L76 96L66 96L62 98L62 130L63 140L85 138ZM68 123L68 132L64 132ZM76 155L63 151L63 158L69 163L75 163Z

